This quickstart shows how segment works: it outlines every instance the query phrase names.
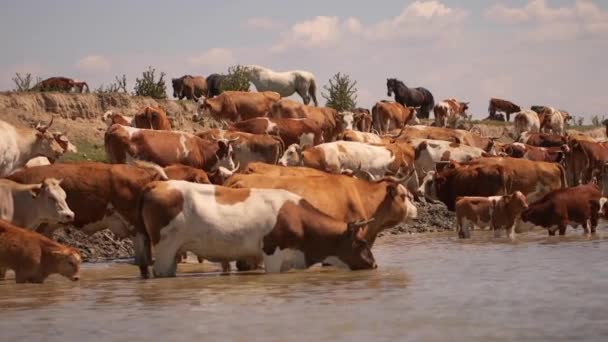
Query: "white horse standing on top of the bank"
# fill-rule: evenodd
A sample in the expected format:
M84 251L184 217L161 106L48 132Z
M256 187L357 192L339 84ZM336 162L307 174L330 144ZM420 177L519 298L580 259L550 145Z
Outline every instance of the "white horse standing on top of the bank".
M249 81L253 83L258 91L276 91L281 97L287 97L298 93L304 104L310 103L310 99L317 103L317 85L315 75L308 71L292 70L276 72L259 65L246 65L249 69Z

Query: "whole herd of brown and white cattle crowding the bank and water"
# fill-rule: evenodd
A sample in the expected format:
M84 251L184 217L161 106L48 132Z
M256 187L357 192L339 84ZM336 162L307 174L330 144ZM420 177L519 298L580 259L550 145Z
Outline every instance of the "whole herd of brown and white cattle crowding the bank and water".
M107 164L54 163L74 146L50 132L52 121L0 121L0 277L78 279L78 251L48 238L66 223L131 238L147 278L150 265L155 277L175 276L186 252L224 271L232 261L266 272L372 269L376 237L415 219L417 201L455 211L462 238L484 227L514 238L526 225L594 232L608 217L608 144L565 134L562 110L492 99L491 117L515 114L516 141L501 143L454 128L468 108L455 99L433 105L432 125L418 120L424 106L399 101L338 113L271 91L225 91L198 103L223 129L176 131L154 107L103 114Z

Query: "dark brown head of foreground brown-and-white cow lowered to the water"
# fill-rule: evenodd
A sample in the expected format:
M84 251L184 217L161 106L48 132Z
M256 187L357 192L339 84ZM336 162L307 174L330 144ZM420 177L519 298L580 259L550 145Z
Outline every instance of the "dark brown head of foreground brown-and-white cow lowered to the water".
M360 234L361 229L371 221L373 219L348 223L340 237L336 256L351 270L368 270L377 267L370 244Z

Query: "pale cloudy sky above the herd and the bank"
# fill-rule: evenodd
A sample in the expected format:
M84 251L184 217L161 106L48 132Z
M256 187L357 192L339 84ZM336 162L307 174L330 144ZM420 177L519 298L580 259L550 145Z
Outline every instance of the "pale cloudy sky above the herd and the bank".
M177 77L260 64L319 87L348 73L365 107L397 77L476 117L492 96L608 114L604 0L4 0L0 41L6 90L15 72L132 87L148 65Z

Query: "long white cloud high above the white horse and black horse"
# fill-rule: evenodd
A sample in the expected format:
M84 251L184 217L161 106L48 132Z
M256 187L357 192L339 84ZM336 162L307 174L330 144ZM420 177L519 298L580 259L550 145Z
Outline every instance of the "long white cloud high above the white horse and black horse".
M294 47L352 45L361 39L376 42L441 38L452 34L467 16L466 10L449 8L437 0L415 1L399 15L368 26L354 17L317 16L296 23L283 32L272 50L282 52Z

